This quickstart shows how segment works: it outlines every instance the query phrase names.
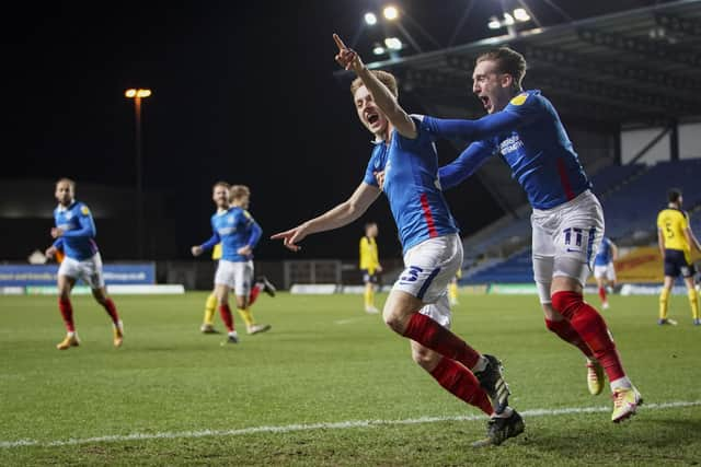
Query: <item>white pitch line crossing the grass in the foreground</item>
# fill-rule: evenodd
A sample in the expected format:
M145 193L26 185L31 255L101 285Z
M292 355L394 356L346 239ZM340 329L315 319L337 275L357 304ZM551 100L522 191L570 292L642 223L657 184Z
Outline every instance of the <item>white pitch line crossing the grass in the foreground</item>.
M692 407L701 406L701 400L680 400L674 402L663 404L646 404L641 407L641 410L664 410L679 407ZM598 413L608 412L610 407L565 407L562 409L531 409L520 412L526 417L558 417L573 413ZM295 431L311 431L311 430L347 430L352 428L374 428L386 425L401 425L401 424L418 424L418 423L437 423L445 421L478 421L484 420L484 416L452 416L452 417L420 417L415 419L405 420L348 420L341 422L322 422L322 423L309 423L309 424L286 424L286 425L272 425L272 427L250 427L241 428L237 430L202 430L202 431L179 431L179 432L163 432L163 433L131 433L131 434L113 434L106 436L95 437L80 437L56 441L38 441L38 440L16 440L16 441L0 441L0 448L7 450L12 447L22 446L37 446L37 447L54 447L54 446L71 446L77 444L91 444L91 443L115 443L122 441L143 441L143 440L176 440L176 439L193 439L205 436L240 436L244 434L255 433L290 433Z

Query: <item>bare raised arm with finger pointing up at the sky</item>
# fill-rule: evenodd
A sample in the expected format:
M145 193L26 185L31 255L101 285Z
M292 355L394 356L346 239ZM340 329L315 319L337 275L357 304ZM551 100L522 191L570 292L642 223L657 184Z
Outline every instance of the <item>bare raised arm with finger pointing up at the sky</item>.
M372 100L377 106L401 136L409 139L416 138L416 124L414 124L414 120L412 120L409 114L399 105L390 90L367 69L360 56L355 50L346 47L337 34L333 35L333 39L336 46L338 46L338 54L336 55L338 65L346 70L352 69L355 71L363 81L363 84L365 84L365 87L367 87L368 92L372 95Z

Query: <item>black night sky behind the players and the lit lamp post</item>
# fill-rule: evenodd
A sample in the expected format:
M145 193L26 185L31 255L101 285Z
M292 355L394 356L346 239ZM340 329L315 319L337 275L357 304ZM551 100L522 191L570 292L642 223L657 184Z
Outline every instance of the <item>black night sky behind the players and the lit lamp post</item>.
M134 110L123 93L148 86L154 94L143 107L145 184L176 206L181 256L209 234L210 186L217 179L251 187L251 211L266 234L343 201L360 182L370 138L347 89L333 77L331 34L347 42L359 34L356 48L371 61L372 34L380 33L359 32L360 19L384 2L64 3L26 3L3 13L9 24L2 33L0 178L70 176L133 185ZM443 46L468 3L397 2ZM499 11L495 0L473 3L456 44L486 37L487 17ZM545 24L562 21L548 2L528 3ZM584 17L654 2L555 3ZM423 47L435 48L411 21L405 25ZM411 96L400 100L421 113ZM439 149L444 163L457 155L448 145ZM476 179L448 198L464 232L501 214ZM383 199L364 219L380 222L382 256L400 253ZM304 256L352 258L360 234L361 222L312 236ZM257 254L289 255L268 241Z

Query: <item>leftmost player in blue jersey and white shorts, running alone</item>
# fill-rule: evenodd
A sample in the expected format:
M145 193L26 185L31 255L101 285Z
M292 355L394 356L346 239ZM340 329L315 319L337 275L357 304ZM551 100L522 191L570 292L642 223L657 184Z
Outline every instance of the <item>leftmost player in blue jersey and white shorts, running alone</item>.
M107 295L102 272L102 257L95 243L95 222L90 209L76 201L76 183L70 178L56 182L56 200L54 210L56 226L51 229L54 244L46 249L46 257L53 258L62 253L64 259L58 268L58 308L66 324L66 338L56 348L66 350L78 347L80 339L73 322L73 306L70 292L78 279L82 279L92 290L92 296L105 308L113 326L114 347L122 347L124 326L119 319L117 307Z

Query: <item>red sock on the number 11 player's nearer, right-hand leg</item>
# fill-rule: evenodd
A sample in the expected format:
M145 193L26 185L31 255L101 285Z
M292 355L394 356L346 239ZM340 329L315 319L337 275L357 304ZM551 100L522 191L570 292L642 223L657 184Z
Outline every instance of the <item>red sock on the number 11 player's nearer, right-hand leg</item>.
M609 335L608 327L601 315L586 303L581 293L558 292L552 295L552 306L570 320L572 327L582 336L594 352L609 381L625 376L621 359L616 350L616 343Z

